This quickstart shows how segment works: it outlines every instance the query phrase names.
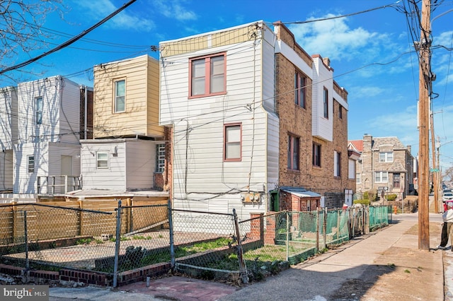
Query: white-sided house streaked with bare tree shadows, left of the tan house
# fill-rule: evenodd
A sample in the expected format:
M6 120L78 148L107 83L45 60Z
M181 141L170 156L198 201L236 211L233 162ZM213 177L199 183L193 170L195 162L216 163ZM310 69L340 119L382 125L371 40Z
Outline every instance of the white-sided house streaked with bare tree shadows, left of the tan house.
M19 83L17 116L15 194L36 194L38 177L45 177L41 184L47 184L47 177L58 176L55 184L62 184L60 175L80 175L78 84L61 76Z

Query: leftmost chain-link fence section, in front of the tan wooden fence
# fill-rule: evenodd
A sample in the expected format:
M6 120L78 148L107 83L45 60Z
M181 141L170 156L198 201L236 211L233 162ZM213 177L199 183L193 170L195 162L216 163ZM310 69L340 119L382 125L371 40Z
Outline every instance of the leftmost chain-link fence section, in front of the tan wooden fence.
M59 267L93 269L104 236L115 233L111 212L47 206L40 203L0 207L0 254L4 264L55 270Z

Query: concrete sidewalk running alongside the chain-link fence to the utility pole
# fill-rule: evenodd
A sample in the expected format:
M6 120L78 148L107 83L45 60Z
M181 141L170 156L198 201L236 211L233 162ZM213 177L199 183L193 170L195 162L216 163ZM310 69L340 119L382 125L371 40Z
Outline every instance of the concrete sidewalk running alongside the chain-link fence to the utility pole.
M396 216L389 227L243 288L168 277L149 288L50 288L50 300L444 300L444 291L453 292L453 252L419 250L416 225ZM440 235L430 235L431 247L439 242Z

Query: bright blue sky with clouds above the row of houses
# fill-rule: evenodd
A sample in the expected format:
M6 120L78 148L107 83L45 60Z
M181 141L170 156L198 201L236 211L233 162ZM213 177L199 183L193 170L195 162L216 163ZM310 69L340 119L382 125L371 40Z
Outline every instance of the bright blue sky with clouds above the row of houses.
M64 1L64 19L47 16L45 30L54 39L41 37L55 47L81 33L127 0ZM420 1L421 2L421 1ZM438 0L432 12L432 71L436 74L432 100L435 136L440 139L442 169L453 166L453 1ZM393 4L394 6L390 6ZM379 8L386 6L385 8ZM264 20L280 20L294 33L309 54L331 59L335 80L348 90L348 138L397 136L418 153L418 59L413 35L420 36L411 18L402 13L408 1L375 0L137 0L84 39L38 63L24 67L23 78L70 76L77 83L93 85L93 66L149 54L151 46L212 30ZM379 8L372 10L372 8ZM366 13L358 13L361 11ZM449 11L452 11L451 13ZM293 24L334 16L345 18ZM56 31L55 31L56 30ZM411 35L413 33L413 35ZM441 45L442 47L437 47ZM31 57L42 50L32 52ZM23 54L10 65L29 57ZM17 71L16 71L17 73ZM33 75L30 73L39 73ZM11 85L0 77L0 87Z

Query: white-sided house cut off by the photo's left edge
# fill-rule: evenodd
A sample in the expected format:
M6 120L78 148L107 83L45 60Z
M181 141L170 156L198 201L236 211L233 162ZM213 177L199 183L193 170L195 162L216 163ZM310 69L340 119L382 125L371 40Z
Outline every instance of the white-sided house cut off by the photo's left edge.
M0 191L13 190L13 143L17 139L17 88L0 89Z

